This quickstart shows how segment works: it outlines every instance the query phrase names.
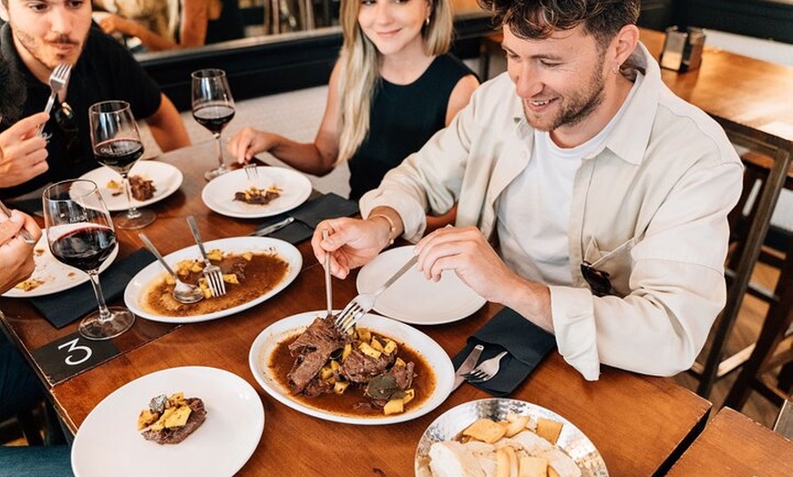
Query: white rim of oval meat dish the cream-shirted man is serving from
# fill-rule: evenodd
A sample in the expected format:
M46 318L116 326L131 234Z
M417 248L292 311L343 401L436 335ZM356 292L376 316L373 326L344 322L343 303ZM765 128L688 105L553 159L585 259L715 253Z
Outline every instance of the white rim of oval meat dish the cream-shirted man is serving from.
M273 396L277 401L289 406L295 411L303 412L309 416L324 419L326 421L343 422L346 424L378 425L404 422L423 416L429 411L437 408L443 401L446 401L448 394L454 385L454 368L449 360L446 351L437 342L429 338L426 334L413 327L407 326L395 320L390 320L373 314L366 314L358 326L373 330L397 342L405 343L412 350L415 350L427 361L427 368L435 372L435 391L432 395L421 403L420 406L408 409L401 414L389 416L366 416L353 417L349 415L336 414L331 411L324 411L304 404L303 401L294 400L288 388L284 388L278 379L273 375L273 370L267 366L270 356L281 341L303 332L314 321L317 316L324 316L325 310L307 311L298 315L293 315L283 320L278 320L256 337L248 353L248 364L251 366L253 377L262 386L264 391Z

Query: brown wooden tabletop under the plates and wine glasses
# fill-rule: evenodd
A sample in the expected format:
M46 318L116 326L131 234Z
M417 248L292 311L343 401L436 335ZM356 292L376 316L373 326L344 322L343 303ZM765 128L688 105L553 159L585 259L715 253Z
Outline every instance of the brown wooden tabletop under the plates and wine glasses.
M262 222L221 216L201 201L201 189L206 184L202 174L213 161L211 143L171 151L159 160L184 173L175 194L149 206L158 217L144 231L163 254L193 243L185 223L189 215L196 218L205 240L246 236ZM142 246L137 231L119 229L118 241L119 259ZM252 341L277 320L325 308L324 269L314 259L307 240L297 248L304 259L303 269L291 285L260 305L222 319L191 324L138 318L131 330L113 340L119 350L116 357L55 384L43 377L61 418L72 431L79 432L88 413L124 384L157 370L207 366L242 377L262 400L262 438L238 475L412 475L417 442L427 426L444 411L489 398L489 394L463 384L426 415L380 426L324 421L273 399L254 380L249 368ZM336 308L355 296L355 276L356 271L347 279L334 279ZM2 298L0 309L5 312L2 323L6 331L34 365L36 349L77 329L77 322L55 329L27 299ZM452 357L500 309L497 304L486 303L464 319L416 328ZM604 366L598 381L586 381L556 350L510 398L530 401L572 421L602 454L611 475L663 474L703 429L711 409L709 401L667 378ZM141 397L141 402L148 399ZM119 411L129 412L130 426L135 425L139 410Z

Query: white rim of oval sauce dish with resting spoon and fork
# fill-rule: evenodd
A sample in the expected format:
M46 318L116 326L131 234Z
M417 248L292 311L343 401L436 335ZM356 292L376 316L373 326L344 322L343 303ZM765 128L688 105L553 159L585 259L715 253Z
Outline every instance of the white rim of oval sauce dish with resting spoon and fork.
M284 242L279 239L272 239L269 237L232 237L230 239L218 239L204 242L204 248L209 251L211 249L220 249L223 253L266 253L276 252L289 264L289 269L286 271L283 279L279 284L270 289L267 293L259 296L256 299L242 303L226 310L215 311L214 313L206 313L203 315L175 317L165 316L150 312L144 309L141 305L143 294L149 287L149 284L154 279L159 279L167 272L162 268L160 262L155 260L144 269L140 270L137 275L132 277L124 290L124 302L127 304L129 310L141 318L153 321L163 321L165 323L196 323L199 321L215 320L218 318L226 317L234 313L239 313L242 310L248 310L266 299L275 296L282 289L285 289L290 283L297 278L297 274L303 267L303 257L300 251L294 248L289 242ZM177 250L165 256L165 261L172 269L176 268L176 264L185 259L201 259L201 252L197 245L192 245L185 249Z

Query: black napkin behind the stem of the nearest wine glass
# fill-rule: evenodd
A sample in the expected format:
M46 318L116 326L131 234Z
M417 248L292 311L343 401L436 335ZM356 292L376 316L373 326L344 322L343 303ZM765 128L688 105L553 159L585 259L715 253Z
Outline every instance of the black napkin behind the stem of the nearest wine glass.
M139 249L109 266L99 276L105 300L117 299L127 288L129 280L154 260L149 250ZM89 281L53 295L32 298L30 302L58 329L98 309L97 297Z

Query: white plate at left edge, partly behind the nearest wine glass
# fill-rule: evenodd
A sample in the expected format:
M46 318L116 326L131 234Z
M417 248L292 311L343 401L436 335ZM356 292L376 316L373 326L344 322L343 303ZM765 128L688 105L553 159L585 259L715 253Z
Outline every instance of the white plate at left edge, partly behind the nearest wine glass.
M44 230L42 230L44 232ZM41 285L35 289L25 291L22 289L9 289L3 296L6 298L33 298L51 295L58 291L71 289L77 287L82 283L88 281L88 273L69 267L64 263L58 261L52 252L49 251L49 246L46 243L46 233L41 234L41 238L36 242L33 249L33 260L36 262L36 269L33 270L33 275L29 280L41 281ZM99 267L99 273L107 269L116 259L118 255L118 245L116 249L110 253L108 259L102 262Z

